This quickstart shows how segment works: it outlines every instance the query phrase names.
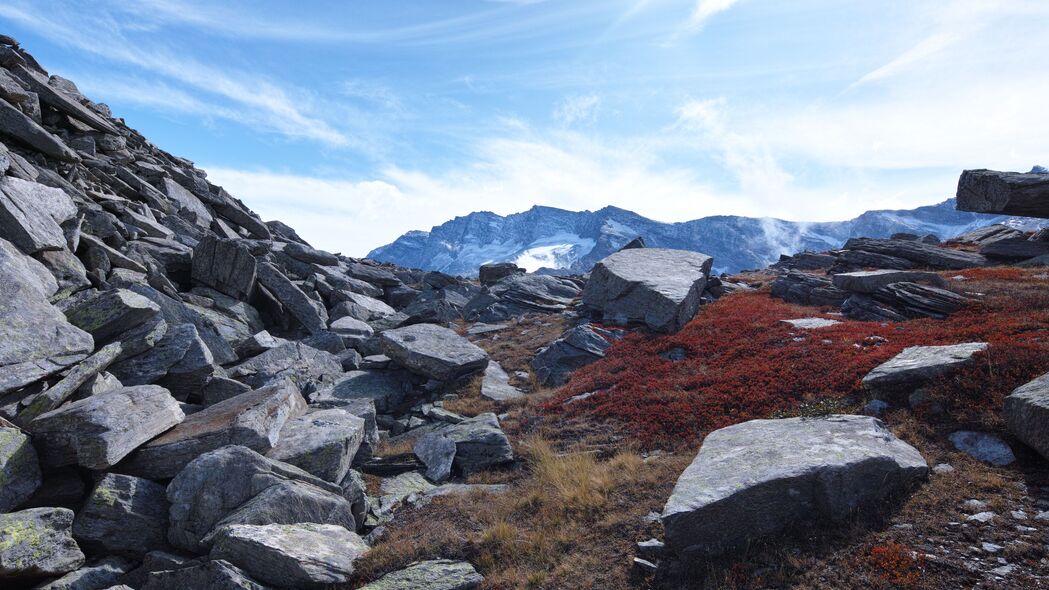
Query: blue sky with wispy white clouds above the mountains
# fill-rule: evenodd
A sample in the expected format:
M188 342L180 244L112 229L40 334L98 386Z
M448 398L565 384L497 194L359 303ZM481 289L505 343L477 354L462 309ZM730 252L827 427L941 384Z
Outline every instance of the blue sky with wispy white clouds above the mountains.
M1049 163L1045 0L4 0L0 33L264 219L833 220Z

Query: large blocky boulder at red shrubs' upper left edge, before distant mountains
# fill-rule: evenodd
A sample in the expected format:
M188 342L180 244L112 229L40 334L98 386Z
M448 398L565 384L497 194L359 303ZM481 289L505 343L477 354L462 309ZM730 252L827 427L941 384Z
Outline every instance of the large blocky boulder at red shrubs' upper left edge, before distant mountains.
M594 266L583 304L605 321L677 332L699 311L712 264L713 258L698 252L623 250Z

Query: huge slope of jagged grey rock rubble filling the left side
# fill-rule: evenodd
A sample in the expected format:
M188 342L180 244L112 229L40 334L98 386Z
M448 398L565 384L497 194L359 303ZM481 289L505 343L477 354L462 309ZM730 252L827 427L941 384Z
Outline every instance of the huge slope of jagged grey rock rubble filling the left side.
M360 473L380 428L448 441L442 481L513 461L441 407L489 358L428 322L479 287L316 250L12 39L0 66L0 586L342 584L395 507ZM566 305L553 280L487 307ZM479 583L373 587L429 578Z

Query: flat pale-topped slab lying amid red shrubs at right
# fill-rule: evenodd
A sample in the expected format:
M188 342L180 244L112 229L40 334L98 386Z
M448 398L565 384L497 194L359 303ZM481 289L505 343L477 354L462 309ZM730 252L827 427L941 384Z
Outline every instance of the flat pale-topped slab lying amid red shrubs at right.
M911 346L868 373L863 386L879 397L914 392L934 379L971 364L973 356L986 350L986 342Z

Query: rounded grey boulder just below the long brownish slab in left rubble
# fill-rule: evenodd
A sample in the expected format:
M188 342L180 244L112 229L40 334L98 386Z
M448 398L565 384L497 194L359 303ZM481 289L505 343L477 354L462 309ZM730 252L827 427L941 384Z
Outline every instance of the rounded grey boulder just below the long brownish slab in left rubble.
M243 446L227 446L190 462L168 485L168 540L206 550L230 524L334 524L356 530L342 488Z

